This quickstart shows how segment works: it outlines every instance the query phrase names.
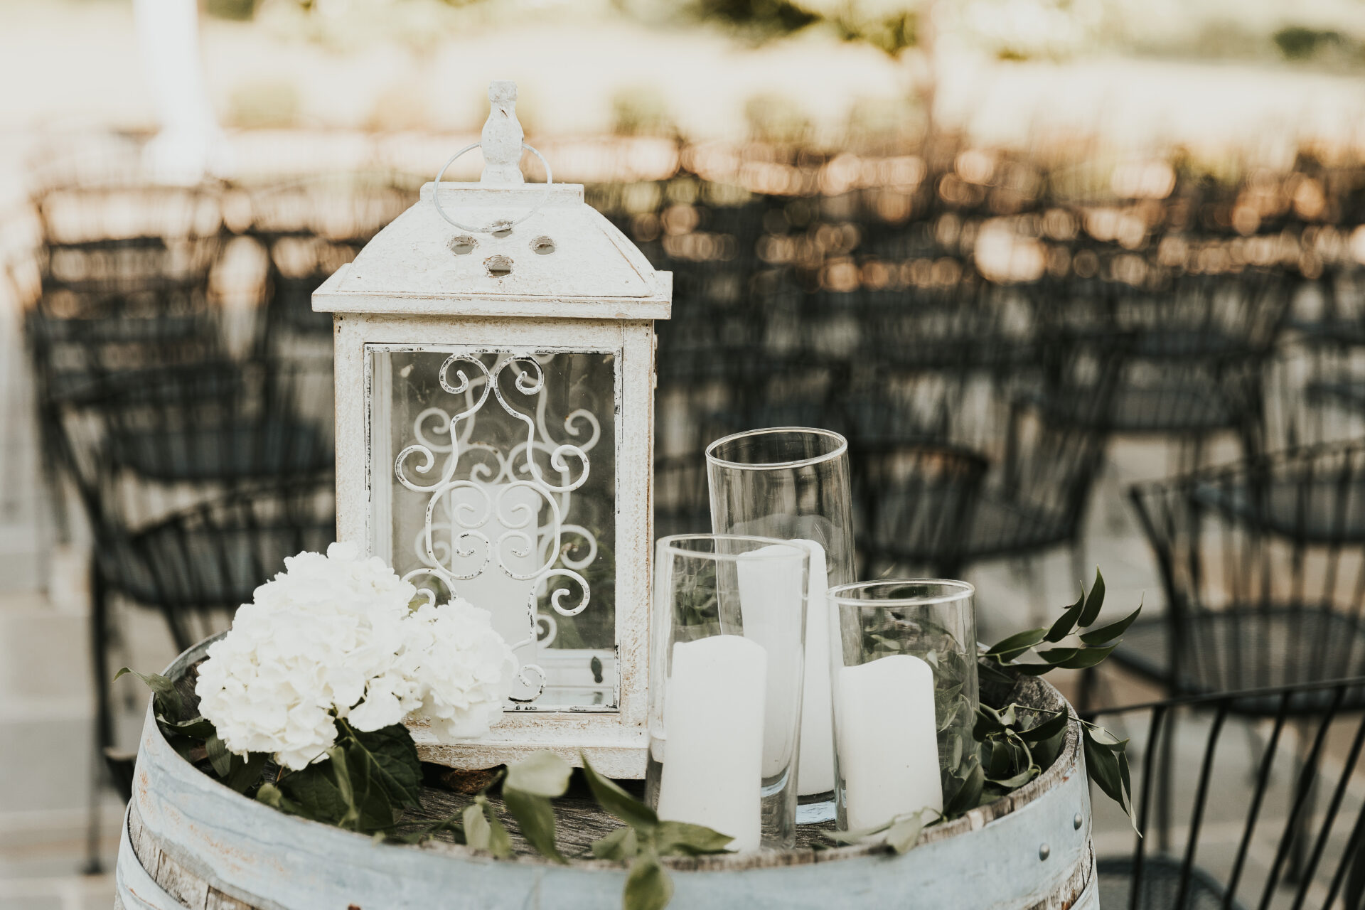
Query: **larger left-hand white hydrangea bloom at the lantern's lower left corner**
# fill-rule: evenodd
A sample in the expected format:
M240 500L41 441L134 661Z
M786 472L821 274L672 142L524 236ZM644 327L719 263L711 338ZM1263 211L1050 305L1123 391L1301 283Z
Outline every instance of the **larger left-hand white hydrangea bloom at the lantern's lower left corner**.
M195 693L231 752L270 752L298 769L336 742L334 718L378 730L420 704L399 666L416 591L355 544L284 566L209 648Z

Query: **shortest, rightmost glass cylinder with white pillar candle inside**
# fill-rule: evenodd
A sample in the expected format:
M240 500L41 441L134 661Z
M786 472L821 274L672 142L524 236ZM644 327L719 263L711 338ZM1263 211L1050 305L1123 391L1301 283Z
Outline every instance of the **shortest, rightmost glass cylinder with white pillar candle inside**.
M841 831L942 812L980 761L973 595L945 580L830 588Z

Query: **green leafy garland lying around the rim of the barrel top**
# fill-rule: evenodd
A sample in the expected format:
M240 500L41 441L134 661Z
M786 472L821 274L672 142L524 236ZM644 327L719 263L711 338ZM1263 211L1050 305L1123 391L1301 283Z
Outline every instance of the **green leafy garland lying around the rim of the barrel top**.
M983 682L1013 688L1021 678L1040 677L1054 669L1095 667L1114 651L1141 611L1138 606L1118 622L1092 628L1103 604L1104 578L1096 572L1091 591L1082 591L1051 626L1013 634L988 648L979 664ZM703 611L704 606L699 604ZM969 701L961 685L966 667L953 647L951 633L946 629L936 632L940 633L942 647L931 648L930 664L939 679L935 708L940 748L960 756L945 774L945 810L942 814L928 810L910 813L868 831L831 832L837 842L850 843L880 835L887 850L905 853L925 827L961 817L1033 780L1065 746L1072 720L1069 712L1021 704L999 708L983 704L972 726L972 742L962 742L960 737L945 741L945 737L957 737L951 720ZM928 629L928 633L932 643L935 630ZM1061 645L1073 636L1077 644ZM878 641L875 636L870 647L874 652L898 648L891 639ZM123 669L119 677L126 673L132 671ZM513 851L512 835L502 820L505 812L541 855L568 862L557 845L553 799L566 793L573 769L554 753L535 753L490 775L470 805L448 819L404 824L404 814L422 805L423 768L412 737L401 723L360 731L339 718L339 734L326 749L325 759L319 756L307 767L288 769L266 753L239 756L228 752L213 723L198 714L190 679L177 684L158 674L134 675L152 689L157 724L182 757L225 786L280 812L377 840L418 843L446 838L497 858L509 857ZM1127 741L1085 722L1080 726L1091 778L1130 812ZM662 858L728 851L730 836L702 825L659 819L647 805L599 775L587 756L583 756L583 776L601 809L622 823L622 827L595 840L587 855L629 864L622 892L625 910L662 910L667 906L673 883ZM501 808L490 797L494 787L501 795Z

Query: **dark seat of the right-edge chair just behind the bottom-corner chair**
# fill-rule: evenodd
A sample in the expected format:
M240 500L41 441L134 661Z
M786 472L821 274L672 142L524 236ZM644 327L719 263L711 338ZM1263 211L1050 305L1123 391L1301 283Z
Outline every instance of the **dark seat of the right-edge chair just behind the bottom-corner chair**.
M1174 671L1173 630L1182 649ZM1175 621L1140 619L1111 658L1174 696L1342 679L1365 674L1365 622L1317 606L1244 606ZM1291 707L1321 711L1325 697L1295 696ZM1365 692L1351 693L1350 704L1365 705ZM1245 699L1233 705L1235 714L1256 716L1278 709L1278 699Z

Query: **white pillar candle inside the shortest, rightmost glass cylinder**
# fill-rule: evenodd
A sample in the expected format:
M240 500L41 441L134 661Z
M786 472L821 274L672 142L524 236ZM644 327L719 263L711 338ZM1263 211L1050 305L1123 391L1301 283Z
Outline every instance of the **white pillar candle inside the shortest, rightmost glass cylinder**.
M852 831L943 810L934 671L898 654L838 673L839 775Z

